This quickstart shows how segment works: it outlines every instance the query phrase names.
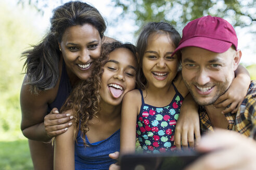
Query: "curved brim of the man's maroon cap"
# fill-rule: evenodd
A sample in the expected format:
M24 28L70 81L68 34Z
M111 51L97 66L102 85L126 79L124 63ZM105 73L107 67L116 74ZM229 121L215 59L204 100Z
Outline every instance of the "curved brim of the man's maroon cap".
M185 47L199 47L216 53L223 53L232 46L232 43L208 37L193 37L183 41L178 48L173 52L175 54L178 50Z

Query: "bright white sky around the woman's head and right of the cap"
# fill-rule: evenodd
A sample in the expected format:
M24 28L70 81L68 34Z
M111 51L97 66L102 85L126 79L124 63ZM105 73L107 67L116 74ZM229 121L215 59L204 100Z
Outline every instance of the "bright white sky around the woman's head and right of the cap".
M8 1L8 0L5 0ZM18 0L15 0L18 1ZM13 1L13 2L15 2ZM35 0L34 0L35 1ZM33 2L33 0L32 0ZM39 5L40 5L39 1ZM68 0L62 0L63 3L68 2ZM135 44L136 37L134 37L134 32L139 29L135 25L135 22L132 19L125 18L122 21L119 21L118 25L114 24L114 19L116 19L122 13L121 8L113 7L114 4L111 3L111 0L86 0L84 1L88 4L96 7L101 15L107 20L107 30L105 32L106 36L115 38L117 40L124 42L130 42ZM59 1L49 1L48 7L44 8L44 15L37 16L35 26L37 25L38 29L42 34L45 34L46 30L49 28L49 18L52 16L52 10L57 6L61 5ZM121 23L120 23L121 22ZM256 63L255 53L256 53L256 41L253 39L252 34L248 33L248 30L253 30L256 32L256 27L251 26L247 28L235 28L237 37L238 37L238 48L242 51L241 63L245 65L250 65Z

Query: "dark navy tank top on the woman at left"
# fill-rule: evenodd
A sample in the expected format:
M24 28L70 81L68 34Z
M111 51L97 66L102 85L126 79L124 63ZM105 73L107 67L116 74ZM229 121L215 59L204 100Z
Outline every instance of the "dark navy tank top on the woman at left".
M61 106L67 100L71 90L72 90L72 87L71 87L68 73L66 70L66 64L63 61L58 93L53 103L48 104L47 113L49 114L50 110L52 110L54 107L60 110Z

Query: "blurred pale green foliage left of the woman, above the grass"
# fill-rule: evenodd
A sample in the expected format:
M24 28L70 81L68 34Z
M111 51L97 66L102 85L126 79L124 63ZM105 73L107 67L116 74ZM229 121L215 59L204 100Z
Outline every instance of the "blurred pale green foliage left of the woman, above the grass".
M23 61L20 56L29 44L39 40L39 33L31 22L34 20L33 17L19 6L2 2L0 18L0 140L2 140L22 137L19 93L23 79L21 74Z

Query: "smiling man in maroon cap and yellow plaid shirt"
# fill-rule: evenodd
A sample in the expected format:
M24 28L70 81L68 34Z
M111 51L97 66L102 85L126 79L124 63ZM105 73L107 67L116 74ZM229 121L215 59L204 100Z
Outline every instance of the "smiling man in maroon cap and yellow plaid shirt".
M201 17L189 22L184 27L183 37L174 53L181 51L184 82L195 101L200 105L199 117L201 132L213 132L214 128L218 127L233 130L256 139L255 80L251 81L247 96L235 114L231 112L222 114L224 108L215 108L212 105L225 93L234 79L234 71L239 65L241 58L241 51L237 49L237 41L235 30L226 20L211 16ZM225 143L226 140L222 133L223 132L220 132L219 135L222 138L217 138L216 141L222 140L223 143ZM219 132L217 134L219 134ZM232 135L231 132L231 136ZM221 146L222 148L228 148L228 146L230 146L229 150L221 150L222 152L228 151L228 154L225 154L225 156L227 157L227 155L229 155L229 161L224 159L222 161L224 162L223 164L219 164L220 162L214 164L211 161L215 161L216 158L220 160L220 158L223 157L216 157L216 155L220 155L220 153L215 153L214 157L214 153L212 153L209 154L208 157L203 158L204 162L197 162L191 169L203 169L203 165L206 164L208 164L208 166L213 165L211 166L212 169L238 169L237 167L239 166L242 167L241 169L247 169L245 168L246 166L239 164L240 161L238 163L236 160L237 156L239 157L241 153L232 154L232 151L235 149L232 143L237 144L235 140L240 140L241 147L246 148L245 144L248 144L253 147L252 150L256 150L255 141L247 142L249 139L244 140L244 137L235 137L234 141L232 140L231 143L226 143L226 145ZM212 141L214 141L214 139ZM239 145L237 147L239 147ZM216 148L218 147L214 149ZM204 150L207 149L204 147ZM208 151L209 150L211 149L208 148ZM255 160L256 152L254 152L251 157ZM205 161L207 158L208 162ZM248 160L249 158L246 159ZM232 161L238 163L239 166L235 166L236 164L232 163ZM249 161L243 160L241 162L247 162L245 165L249 165L250 163L255 165L255 161L249 163ZM236 168L234 168L234 166ZM254 168L255 167L256 165Z

